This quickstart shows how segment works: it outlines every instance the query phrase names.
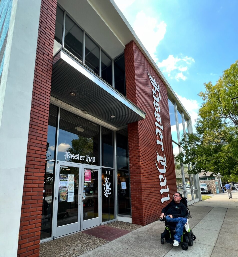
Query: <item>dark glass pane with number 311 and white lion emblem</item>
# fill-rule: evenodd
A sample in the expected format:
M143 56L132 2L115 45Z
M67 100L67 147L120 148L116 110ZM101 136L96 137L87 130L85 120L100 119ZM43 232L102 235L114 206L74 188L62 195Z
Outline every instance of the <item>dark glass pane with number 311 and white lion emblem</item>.
M114 169L102 168L102 222L115 218Z

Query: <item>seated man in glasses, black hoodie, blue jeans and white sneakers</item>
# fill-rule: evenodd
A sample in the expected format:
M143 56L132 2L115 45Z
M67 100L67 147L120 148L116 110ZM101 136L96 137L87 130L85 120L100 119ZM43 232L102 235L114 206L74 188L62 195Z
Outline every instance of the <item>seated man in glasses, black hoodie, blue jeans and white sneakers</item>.
M175 192L173 200L162 209L160 215L161 219L165 219L166 222L172 223L170 225L175 226L173 246L179 245L184 228L186 232L189 231L189 219L184 218L187 213L187 207L181 202L181 199L182 195Z

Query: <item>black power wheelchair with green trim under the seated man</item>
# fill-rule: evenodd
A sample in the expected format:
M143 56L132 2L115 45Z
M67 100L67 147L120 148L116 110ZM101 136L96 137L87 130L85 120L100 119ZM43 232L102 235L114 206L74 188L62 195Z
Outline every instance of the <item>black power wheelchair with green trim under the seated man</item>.
M173 202L173 200L171 202ZM182 197L181 202L185 206L187 206L186 197ZM184 218L189 218L189 217L191 218L192 216L190 216L190 211L189 211L189 208L187 207L187 213L184 216ZM159 220L162 222L165 222L165 229L164 229L164 232L161 233L161 238L160 238L161 244L164 244L164 241L166 243L172 244L174 240L174 234L175 234L175 227L176 227L175 224L172 222L167 222L165 217L163 217L162 219L160 218ZM184 229L183 235L181 236L181 242L180 242L181 248L186 251L187 249L189 249L189 246L193 245L193 241L195 241L195 239L196 239L196 236L193 234L190 228L188 232L186 232L186 230Z

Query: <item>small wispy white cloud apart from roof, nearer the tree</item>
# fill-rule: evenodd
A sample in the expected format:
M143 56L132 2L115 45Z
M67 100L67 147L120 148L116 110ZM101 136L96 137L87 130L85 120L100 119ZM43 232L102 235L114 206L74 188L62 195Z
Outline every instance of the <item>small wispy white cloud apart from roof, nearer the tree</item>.
M167 59L162 62L157 62L159 68L162 68L162 72L168 74L168 77L174 78L177 81L186 80L187 77L183 74L188 68L194 63L194 59L192 57L174 57L172 54L168 56Z

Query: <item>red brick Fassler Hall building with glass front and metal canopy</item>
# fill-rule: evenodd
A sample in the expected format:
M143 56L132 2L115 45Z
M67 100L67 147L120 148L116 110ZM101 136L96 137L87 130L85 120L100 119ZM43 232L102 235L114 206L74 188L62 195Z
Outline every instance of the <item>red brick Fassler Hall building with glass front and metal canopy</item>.
M0 3L0 139L16 156L0 159L12 181L4 256L36 257L42 242L115 220L149 224L177 190L199 201L197 177L182 163L175 175L178 116L183 132L191 117L115 3L36 2Z

